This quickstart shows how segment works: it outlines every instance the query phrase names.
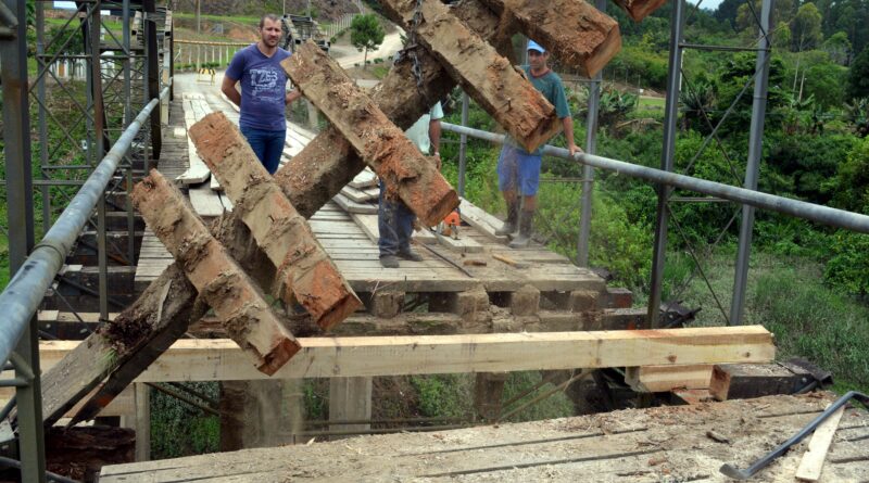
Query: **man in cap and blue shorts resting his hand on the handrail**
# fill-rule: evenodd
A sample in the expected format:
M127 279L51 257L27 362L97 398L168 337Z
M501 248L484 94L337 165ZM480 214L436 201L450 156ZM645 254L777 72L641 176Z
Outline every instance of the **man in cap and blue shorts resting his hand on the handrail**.
M582 152L574 142L574 119L567 106L562 79L546 64L550 54L533 40L528 41L528 62L524 67L525 74L537 90L555 106L555 114L562 119L564 137L567 139L567 150L572 156ZM519 234L509 242L512 249L524 249L531 243L531 224L537 209L537 191L540 185L541 150L538 148L529 153L516 145L515 141L507 138L498 158L498 186L507 202L507 220L504 226L495 230L495 234ZM519 209L519 195L521 195L521 211Z

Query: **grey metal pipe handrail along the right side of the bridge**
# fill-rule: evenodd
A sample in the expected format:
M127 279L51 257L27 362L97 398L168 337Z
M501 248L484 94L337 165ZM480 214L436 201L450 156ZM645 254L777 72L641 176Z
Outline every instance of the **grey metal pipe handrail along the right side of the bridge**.
M483 139L491 142L503 143L504 135L495 135L479 129L469 127L456 126L450 123L442 123L444 130L465 134L478 139ZM597 156L594 154L576 154L572 157L569 152L564 148L555 148L552 145L543 147L543 154L550 156L562 157L565 160L574 160L581 164L592 167L616 171L620 175L627 175L634 178L645 179L656 185L666 185L683 190L695 191L711 196L723 198L735 203L746 204L760 209L769 209L771 212L783 213L785 215L795 216L797 218L808 219L823 225L830 225L837 228L845 228L861 233L869 233L869 216L859 213L846 212L844 209L831 208L829 206L821 206L805 201L791 200L789 198L777 196L760 191L746 190L745 188L732 187L715 181L707 181L691 176L678 175L676 173L667 173L660 169L640 166L624 161L612 160L609 157Z

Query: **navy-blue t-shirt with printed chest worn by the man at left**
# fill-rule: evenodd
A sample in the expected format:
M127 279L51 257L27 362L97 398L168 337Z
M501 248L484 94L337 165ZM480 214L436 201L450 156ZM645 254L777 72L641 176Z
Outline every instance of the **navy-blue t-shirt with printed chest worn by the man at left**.
M254 43L232 56L226 76L241 84L240 126L269 131L287 129L287 74L280 62L290 55L278 47L267 58Z

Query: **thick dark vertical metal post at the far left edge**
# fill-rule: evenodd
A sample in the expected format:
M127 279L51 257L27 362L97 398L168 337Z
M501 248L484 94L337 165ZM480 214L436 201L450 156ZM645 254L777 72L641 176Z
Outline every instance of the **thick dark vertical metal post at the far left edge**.
M9 218L9 269L15 272L27 259L35 243L33 173L30 165L30 111L27 92L27 8L25 0L3 0L17 18L10 25L12 39L0 40L0 78L3 84L3 139ZM28 385L15 389L18 407L20 459L22 481L46 481L46 448L42 433L42 394L39 382L39 341L36 318L22 334L15 354L23 371L33 373Z

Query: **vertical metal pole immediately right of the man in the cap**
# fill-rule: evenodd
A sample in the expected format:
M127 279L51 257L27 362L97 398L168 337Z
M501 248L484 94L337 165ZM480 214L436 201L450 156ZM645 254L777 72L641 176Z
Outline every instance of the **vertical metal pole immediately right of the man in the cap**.
M606 12L606 0L595 0L594 7ZM585 120L585 152L597 152L597 111L601 105L602 73L594 75L589 84L589 115ZM579 213L579 240L577 241L577 265L589 266L589 240L591 239L591 204L594 190L594 168L582 166L582 205Z

